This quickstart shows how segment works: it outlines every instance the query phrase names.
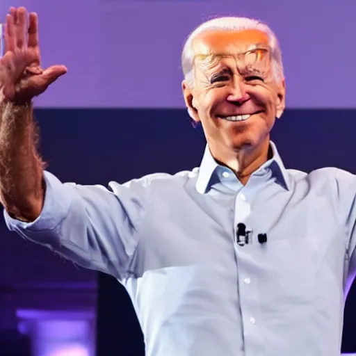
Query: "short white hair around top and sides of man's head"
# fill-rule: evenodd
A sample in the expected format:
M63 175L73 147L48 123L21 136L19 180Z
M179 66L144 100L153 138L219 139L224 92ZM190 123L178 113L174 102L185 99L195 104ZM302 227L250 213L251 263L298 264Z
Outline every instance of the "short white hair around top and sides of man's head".
M181 67L183 69L184 79L186 79L186 81L193 86L195 53L193 51L192 44L197 35L208 31L243 31L249 29L259 30L266 33L273 60L273 77L276 81L283 79L284 70L282 63L282 51L275 33L273 33L267 24L264 24L257 19L251 19L248 17L216 17L200 24L200 26L198 26L188 36L181 54Z

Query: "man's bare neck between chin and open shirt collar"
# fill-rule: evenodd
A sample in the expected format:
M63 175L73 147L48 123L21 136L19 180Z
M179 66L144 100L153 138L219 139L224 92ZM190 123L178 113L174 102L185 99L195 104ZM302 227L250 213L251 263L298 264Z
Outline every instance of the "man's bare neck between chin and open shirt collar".
M243 185L247 184L252 173L268 160L269 137L257 146L243 146L238 149L214 149L211 154L221 165L230 168Z

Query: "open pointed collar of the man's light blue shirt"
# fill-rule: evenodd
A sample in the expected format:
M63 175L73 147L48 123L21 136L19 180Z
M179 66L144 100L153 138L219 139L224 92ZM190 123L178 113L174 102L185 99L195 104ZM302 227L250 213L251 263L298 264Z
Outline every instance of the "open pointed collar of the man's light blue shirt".
M288 172L286 172L286 168L284 167L280 154L277 151L277 147L272 141L270 141L270 148L272 149L272 158L261 165L261 167L252 175L256 175L259 172L263 172L263 170L269 169L272 172L272 177L277 180L277 183L281 184L287 191L289 191L290 181ZM202 158L202 163L200 164L197 176L197 183L195 185L199 193L207 193L211 187L211 177L218 168L223 167L219 165L215 159L213 159L209 146L207 145L205 147L204 156Z

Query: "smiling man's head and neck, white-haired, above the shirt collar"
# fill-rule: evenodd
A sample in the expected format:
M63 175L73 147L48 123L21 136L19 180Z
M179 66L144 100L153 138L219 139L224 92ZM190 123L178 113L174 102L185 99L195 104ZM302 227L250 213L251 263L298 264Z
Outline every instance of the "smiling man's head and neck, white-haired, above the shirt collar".
M219 24L230 30L214 29ZM259 27L249 19L213 20L191 35L183 54L183 62L193 57L183 82L191 118L202 122L214 159L243 183L266 161L270 130L284 110L280 49Z

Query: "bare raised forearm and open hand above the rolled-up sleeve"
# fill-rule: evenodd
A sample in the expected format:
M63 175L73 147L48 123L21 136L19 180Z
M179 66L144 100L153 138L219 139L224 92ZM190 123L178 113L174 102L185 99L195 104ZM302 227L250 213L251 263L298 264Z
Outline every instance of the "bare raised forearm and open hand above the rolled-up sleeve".
M38 16L10 8L6 17L5 54L0 58L0 199L13 217L33 221L44 201L44 163L36 149L33 97L67 69L42 70Z

